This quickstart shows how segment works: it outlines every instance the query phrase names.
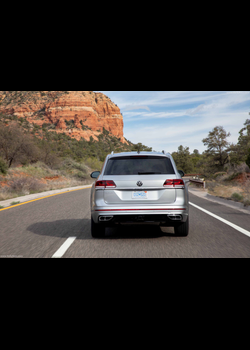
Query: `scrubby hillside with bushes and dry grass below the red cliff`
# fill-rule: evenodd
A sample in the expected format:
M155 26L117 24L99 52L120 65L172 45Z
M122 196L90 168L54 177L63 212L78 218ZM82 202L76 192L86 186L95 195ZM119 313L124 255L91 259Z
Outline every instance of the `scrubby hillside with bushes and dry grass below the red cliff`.
M98 141L77 141L34 125L25 118L0 114L0 201L51 189L90 184L110 152L152 148L122 143L107 130Z

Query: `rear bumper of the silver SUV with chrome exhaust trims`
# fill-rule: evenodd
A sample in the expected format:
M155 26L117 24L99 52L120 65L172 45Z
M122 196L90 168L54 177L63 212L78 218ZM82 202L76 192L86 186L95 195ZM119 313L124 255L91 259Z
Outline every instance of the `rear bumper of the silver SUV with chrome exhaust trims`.
M115 225L119 223L158 223L166 226L186 222L189 210L186 207L171 208L98 208L92 212L97 224Z

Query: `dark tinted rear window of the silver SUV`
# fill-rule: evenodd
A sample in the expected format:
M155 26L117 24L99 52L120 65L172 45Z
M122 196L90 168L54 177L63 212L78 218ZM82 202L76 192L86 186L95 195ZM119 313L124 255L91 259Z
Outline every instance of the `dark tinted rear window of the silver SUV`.
M175 174L169 158L157 156L130 156L111 158L104 175Z

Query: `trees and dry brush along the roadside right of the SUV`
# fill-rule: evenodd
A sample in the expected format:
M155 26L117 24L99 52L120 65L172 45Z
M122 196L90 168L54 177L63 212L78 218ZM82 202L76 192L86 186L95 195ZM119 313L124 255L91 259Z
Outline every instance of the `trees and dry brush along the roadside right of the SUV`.
M230 133L216 126L202 142L207 150L202 154L180 146L172 156L177 167L187 173L201 174L208 192L250 205L250 120L239 131L237 144L229 143Z

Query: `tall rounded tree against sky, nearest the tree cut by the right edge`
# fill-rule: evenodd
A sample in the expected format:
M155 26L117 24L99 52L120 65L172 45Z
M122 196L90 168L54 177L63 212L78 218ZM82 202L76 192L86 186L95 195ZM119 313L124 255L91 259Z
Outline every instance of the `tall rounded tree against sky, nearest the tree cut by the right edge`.
M230 132L227 133L223 126L216 126L209 132L208 137L202 140L204 145L208 147L205 153L212 156L215 164L219 166L224 166L228 161L230 143L227 138L230 135Z

